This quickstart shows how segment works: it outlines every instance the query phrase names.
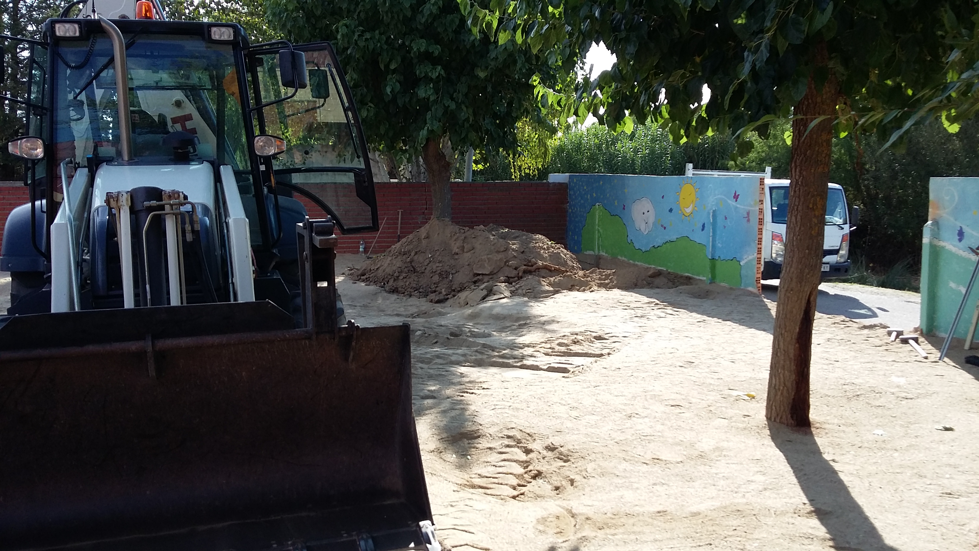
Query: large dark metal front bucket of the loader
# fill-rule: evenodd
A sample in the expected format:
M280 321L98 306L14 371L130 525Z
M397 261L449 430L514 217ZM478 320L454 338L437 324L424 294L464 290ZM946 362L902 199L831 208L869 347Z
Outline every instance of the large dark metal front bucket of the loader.
M0 549L425 549L409 327L292 327L270 303L0 326Z

